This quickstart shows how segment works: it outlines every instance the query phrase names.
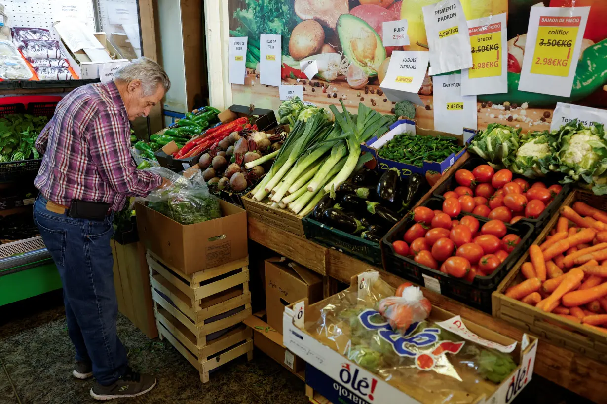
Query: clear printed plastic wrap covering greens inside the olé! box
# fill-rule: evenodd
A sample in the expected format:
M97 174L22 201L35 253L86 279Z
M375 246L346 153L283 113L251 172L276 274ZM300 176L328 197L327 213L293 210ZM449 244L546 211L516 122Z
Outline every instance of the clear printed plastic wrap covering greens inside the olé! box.
M427 404L473 403L489 397L516 367L512 356L466 340L438 322L413 322L394 331L377 310L394 290L378 279L325 300L305 328L317 340ZM359 297L362 296L362 297ZM326 303L326 304L325 304Z

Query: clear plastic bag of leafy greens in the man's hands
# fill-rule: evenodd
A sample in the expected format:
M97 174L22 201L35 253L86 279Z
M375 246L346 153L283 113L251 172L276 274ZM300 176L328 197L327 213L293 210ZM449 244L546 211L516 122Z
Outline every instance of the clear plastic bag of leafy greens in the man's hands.
M149 202L149 208L182 225L205 222L222 216L219 199L209 193L202 171L197 171L190 178L164 167L146 168L146 171L160 174L171 181L169 187L158 188L143 198Z

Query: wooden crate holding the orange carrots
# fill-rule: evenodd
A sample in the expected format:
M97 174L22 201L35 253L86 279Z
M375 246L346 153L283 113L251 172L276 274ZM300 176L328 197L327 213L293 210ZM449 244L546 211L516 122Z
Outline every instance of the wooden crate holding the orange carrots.
M595 196L594 194L580 190L569 194L563 201L563 206L571 206L577 200L582 200L596 208L607 208L607 199L605 197ZM558 216L557 211L548 222L548 225L535 239L534 244L541 244L543 242L548 233L557 224ZM493 316L512 323L518 326L518 328L524 329L524 331L549 340L555 345L563 346L575 353L607 363L607 338L605 337L605 333L572 322L557 316L557 314L545 313L535 306L527 305L504 294L507 288L524 280L524 277L520 274L520 268L528 259L529 252L526 251L515 264L512 271L500 283L497 291L493 292Z

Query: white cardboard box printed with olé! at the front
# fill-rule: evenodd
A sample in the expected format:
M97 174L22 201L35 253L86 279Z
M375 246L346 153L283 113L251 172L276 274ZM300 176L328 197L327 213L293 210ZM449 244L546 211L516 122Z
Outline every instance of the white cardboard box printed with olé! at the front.
M359 288L359 280L362 285L362 282L374 282L375 279L378 279L376 271L368 271L354 276L349 291L360 293L365 288L364 285ZM425 404L431 402L432 397L428 397L427 401L424 400L427 392L418 394L419 397L414 399L399 389L400 380L397 377L393 377L390 382L386 382L376 374L351 362L347 357L320 342L312 334L307 333L304 323L315 323L319 319L320 310L329 303L330 298L321 300L314 305L308 305L305 300L301 300L285 308L283 314L283 343L287 349L290 349L296 356L301 357L308 363L306 370L307 385L333 403ZM373 310L369 309L369 311ZM523 334L523 340L517 342L483 326L463 320L459 316L438 307L432 308L432 319L441 322L441 326L444 324L449 331L461 331L461 333L466 334L467 339L476 341L483 339L488 343L487 346L497 346L499 344L503 347L510 347L512 344L516 344L512 356L517 362L517 368L499 385L495 384L495 389L492 390L491 394L479 396L474 401L475 404L511 403L524 386L531 381L537 351L537 338ZM432 333L432 331L429 328L424 329L424 339L427 338L427 333ZM457 334L461 336L461 333ZM419 334L416 334L416 337L418 336ZM347 338L347 336L344 336L344 339ZM395 349L399 347L399 339L395 339ZM421 343L416 343L416 345L421 345ZM436 346L437 348L443 348L442 353L434 354L436 349L433 351L434 355L418 353L415 362L419 369L432 369L438 356L449 355L449 352L457 353L459 349L463 348L463 346L458 345L463 345L463 343L444 341ZM406 349L406 347L407 345L400 345L399 349ZM415 386L406 385L404 382L400 386L403 389L407 388L411 389L410 391L415 391Z

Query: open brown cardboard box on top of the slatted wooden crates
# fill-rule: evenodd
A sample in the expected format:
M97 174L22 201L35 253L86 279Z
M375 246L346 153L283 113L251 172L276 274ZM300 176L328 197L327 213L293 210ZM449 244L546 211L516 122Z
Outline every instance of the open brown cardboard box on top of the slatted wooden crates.
M219 201L222 217L182 225L141 203L135 205L139 238L161 260L185 274L248 256L246 211Z

